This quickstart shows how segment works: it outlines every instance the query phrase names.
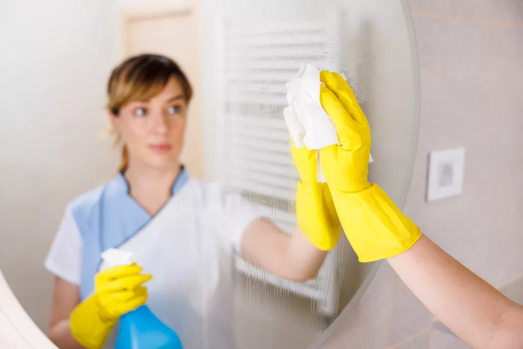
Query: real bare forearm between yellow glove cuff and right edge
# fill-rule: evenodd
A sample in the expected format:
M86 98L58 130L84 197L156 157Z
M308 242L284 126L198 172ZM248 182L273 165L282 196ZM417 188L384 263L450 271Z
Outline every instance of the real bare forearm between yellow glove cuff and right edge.
M475 348L523 348L523 307L422 237L388 259L416 297Z

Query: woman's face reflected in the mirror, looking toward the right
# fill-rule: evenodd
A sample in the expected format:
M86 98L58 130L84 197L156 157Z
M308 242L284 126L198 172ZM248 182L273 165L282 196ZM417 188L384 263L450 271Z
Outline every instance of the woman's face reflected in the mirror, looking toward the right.
M129 152L130 163L154 168L179 165L187 120L187 102L177 78L150 100L135 100L111 116L112 126Z

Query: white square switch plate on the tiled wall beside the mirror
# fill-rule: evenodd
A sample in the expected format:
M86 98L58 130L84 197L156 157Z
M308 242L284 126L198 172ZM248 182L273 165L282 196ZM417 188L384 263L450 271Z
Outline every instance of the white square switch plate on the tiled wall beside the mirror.
M456 196L463 191L465 148L430 153L427 201Z

